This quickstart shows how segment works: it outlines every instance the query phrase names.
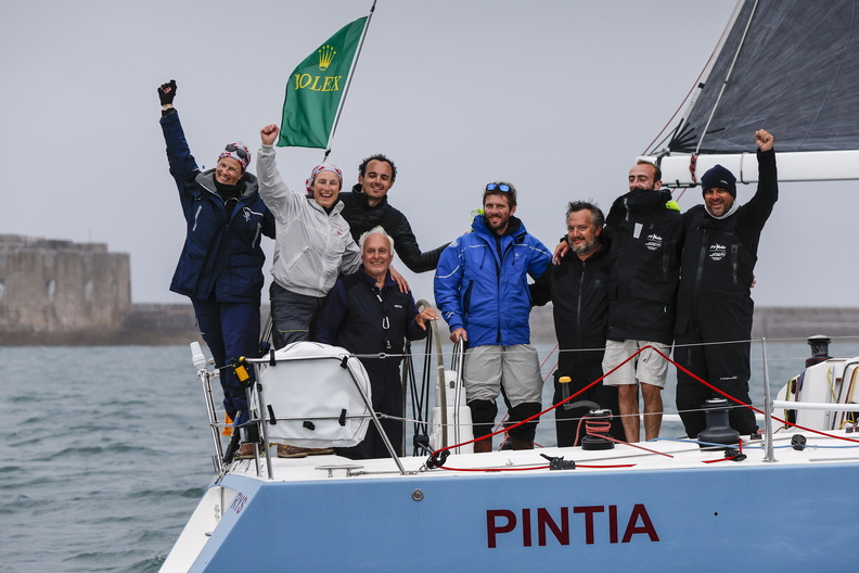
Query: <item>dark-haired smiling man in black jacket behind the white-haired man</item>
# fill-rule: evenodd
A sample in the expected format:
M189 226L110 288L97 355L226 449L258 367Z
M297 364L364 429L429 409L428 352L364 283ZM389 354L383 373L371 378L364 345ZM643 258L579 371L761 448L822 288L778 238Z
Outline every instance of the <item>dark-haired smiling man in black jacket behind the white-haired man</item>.
M388 203L387 193L397 179L394 162L382 154L371 155L361 162L358 171L358 184L351 192L341 194L342 215L349 224L355 242L372 228L382 227L394 239L397 254L412 272L435 269L447 244L421 252L409 219Z

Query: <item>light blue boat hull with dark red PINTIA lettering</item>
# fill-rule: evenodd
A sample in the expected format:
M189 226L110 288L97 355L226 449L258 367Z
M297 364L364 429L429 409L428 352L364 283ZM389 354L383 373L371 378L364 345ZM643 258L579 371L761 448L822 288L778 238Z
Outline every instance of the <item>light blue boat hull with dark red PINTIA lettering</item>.
M859 460L715 466L447 475L436 470L312 482L229 474L211 486L229 488L229 505L188 570L852 565L859 534L846 523L859 501L846 487L859 474ZM211 513L215 497L204 498L197 511ZM185 535L200 532L183 533L174 552Z

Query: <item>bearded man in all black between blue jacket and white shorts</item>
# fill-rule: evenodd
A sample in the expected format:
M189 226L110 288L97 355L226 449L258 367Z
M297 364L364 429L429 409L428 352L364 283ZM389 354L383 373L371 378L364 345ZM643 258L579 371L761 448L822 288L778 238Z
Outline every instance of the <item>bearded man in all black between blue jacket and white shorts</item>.
M549 301L553 305L555 335L561 349L554 375L554 404L577 394L603 375L611 269L611 243L602 232L604 220L597 205L585 201L569 203L566 215L569 250L557 265L549 265L531 285L535 305L542 306ZM582 404L586 400L618 413L617 387L598 382L555 408L559 446L579 445L579 420L593 408ZM612 419L610 433L624 440L620 418Z

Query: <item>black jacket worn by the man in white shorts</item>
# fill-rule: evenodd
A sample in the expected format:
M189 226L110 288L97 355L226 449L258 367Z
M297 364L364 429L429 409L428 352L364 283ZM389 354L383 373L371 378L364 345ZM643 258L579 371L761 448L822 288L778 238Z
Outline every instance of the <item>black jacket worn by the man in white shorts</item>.
M670 201L668 190L636 190L608 212L608 340L671 343L683 216Z

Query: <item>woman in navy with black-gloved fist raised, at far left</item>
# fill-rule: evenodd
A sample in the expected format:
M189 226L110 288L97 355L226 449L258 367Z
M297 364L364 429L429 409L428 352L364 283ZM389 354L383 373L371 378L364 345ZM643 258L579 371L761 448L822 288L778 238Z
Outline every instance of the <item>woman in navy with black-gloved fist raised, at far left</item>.
M247 171L251 153L230 143L214 169L201 171L172 105L176 80L158 87L161 125L170 175L179 190L185 240L170 290L191 298L200 333L220 370L223 407L235 423L247 416L247 394L228 360L259 355L259 301L266 255L261 235L274 237L274 217ZM251 371L251 375L254 372ZM256 432L243 433L241 457L253 455Z

